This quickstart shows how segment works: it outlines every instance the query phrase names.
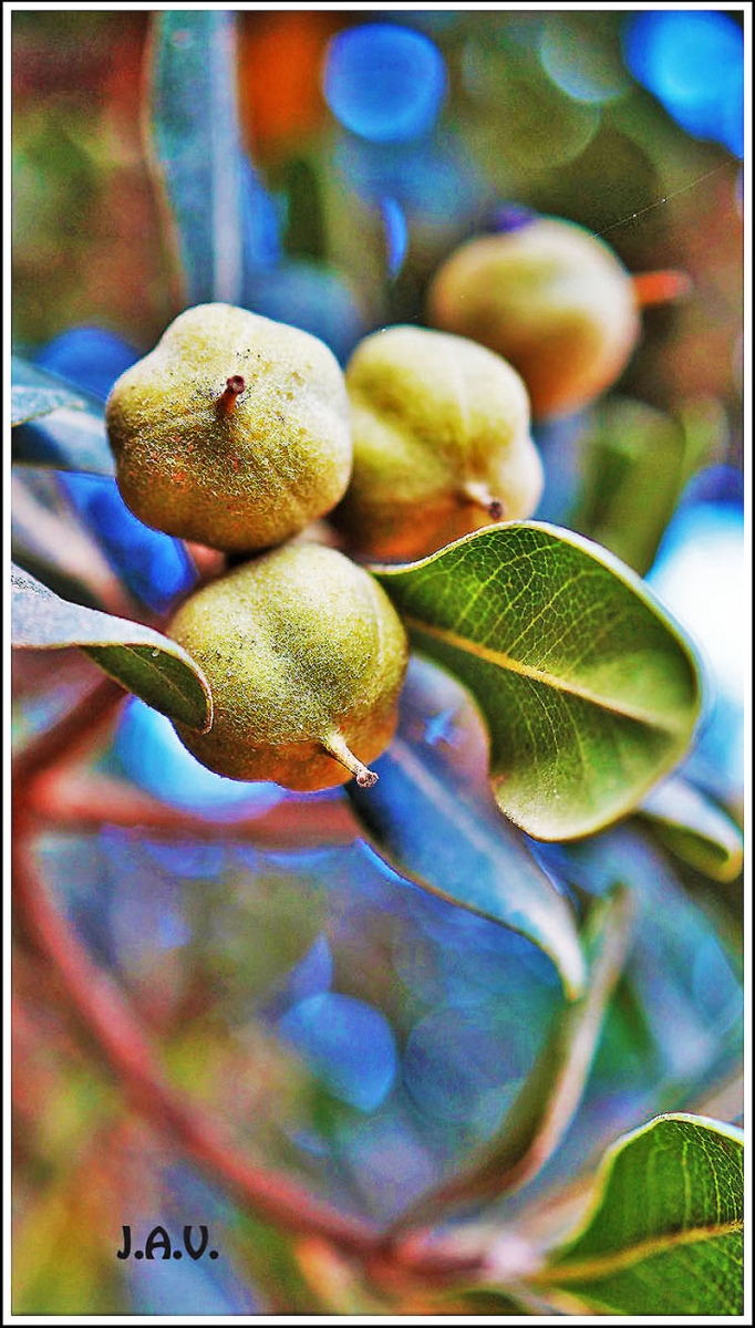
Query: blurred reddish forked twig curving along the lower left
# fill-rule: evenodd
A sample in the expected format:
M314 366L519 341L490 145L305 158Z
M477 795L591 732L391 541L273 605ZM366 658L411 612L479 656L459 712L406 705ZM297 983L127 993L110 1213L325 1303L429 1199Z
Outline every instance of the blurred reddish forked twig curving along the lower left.
M237 1201L263 1219L303 1236L330 1240L346 1255L358 1258L375 1279L396 1284L407 1276L433 1282L459 1278L479 1270L484 1254L433 1242L432 1232L411 1231L396 1239L360 1218L342 1214L314 1199L288 1178L269 1171L238 1151L233 1137L178 1092L165 1077L160 1056L137 1016L112 977L92 961L65 918L54 907L33 862L32 837L40 823L101 826L104 823L170 830L173 834L218 837L238 833L233 822L206 823L157 799L117 786L102 788L86 774L72 774L70 761L81 754L110 718L124 697L110 679L92 688L77 705L45 733L33 738L13 762L15 806L12 825L13 902L16 922L41 952L51 976L57 979L70 1009L93 1037L118 1084L148 1122L163 1130L193 1161L225 1185ZM274 809L275 810L275 809ZM299 807L298 811L302 809ZM316 811L322 822L323 809ZM335 809L334 809L335 810ZM342 809L343 811L343 809ZM287 815L287 809L284 809ZM274 814L267 819L272 823ZM332 833L343 841L344 826ZM249 833L249 826L246 827ZM255 838L259 835L255 823ZM270 826L267 827L270 833ZM300 835L300 822L298 830ZM282 830L282 822L278 833ZM322 825L320 825L322 831ZM326 834L330 831L326 827ZM272 835L275 839L275 834Z

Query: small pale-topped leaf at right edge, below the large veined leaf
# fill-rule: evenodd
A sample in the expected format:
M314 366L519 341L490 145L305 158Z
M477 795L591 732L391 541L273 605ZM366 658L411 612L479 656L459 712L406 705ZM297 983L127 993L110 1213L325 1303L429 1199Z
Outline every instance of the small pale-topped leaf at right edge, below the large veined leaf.
M682 862L714 880L735 880L744 846L738 825L682 776L665 780L638 811Z

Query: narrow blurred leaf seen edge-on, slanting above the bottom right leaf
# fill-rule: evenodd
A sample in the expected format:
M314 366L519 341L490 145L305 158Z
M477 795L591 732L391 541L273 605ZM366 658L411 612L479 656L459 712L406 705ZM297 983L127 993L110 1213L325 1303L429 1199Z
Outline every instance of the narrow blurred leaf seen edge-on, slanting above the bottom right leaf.
M467 1166L404 1214L397 1227L439 1220L461 1206L497 1199L520 1189L548 1162L578 1106L631 939L633 903L617 886L593 904L582 948L588 983L565 1005L496 1137Z

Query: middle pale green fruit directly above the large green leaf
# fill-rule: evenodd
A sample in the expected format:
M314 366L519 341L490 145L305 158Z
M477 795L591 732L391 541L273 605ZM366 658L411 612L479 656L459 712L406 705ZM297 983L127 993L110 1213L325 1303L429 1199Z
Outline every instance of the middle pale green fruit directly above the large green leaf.
M490 523L467 485L532 515L542 463L518 373L467 337L419 327L375 332L347 369L354 471L334 521L356 552L412 559Z

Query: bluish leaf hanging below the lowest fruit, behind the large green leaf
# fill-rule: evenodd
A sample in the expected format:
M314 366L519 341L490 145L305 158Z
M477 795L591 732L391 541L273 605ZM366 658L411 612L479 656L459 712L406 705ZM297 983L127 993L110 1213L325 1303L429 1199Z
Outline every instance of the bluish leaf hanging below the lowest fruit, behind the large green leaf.
M436 741L441 728L451 741ZM550 956L574 999L585 984L574 911L521 830L500 815L484 762L485 730L469 693L429 661L412 660L397 736L376 762L380 778L368 790L351 784L347 793L391 866L526 936Z

